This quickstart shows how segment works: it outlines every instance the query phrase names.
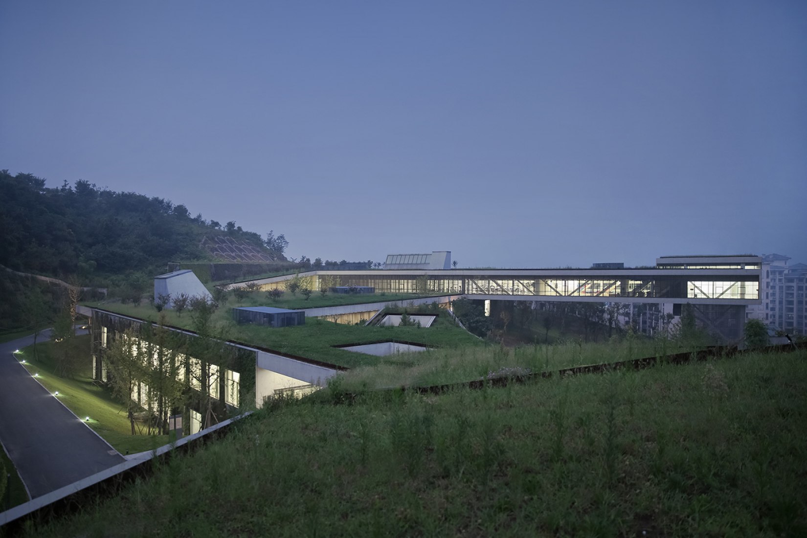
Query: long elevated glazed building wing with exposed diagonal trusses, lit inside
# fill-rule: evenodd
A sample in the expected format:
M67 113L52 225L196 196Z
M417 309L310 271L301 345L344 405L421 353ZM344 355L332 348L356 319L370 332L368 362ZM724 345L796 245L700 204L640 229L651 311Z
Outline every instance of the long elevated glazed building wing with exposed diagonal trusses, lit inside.
M399 256L400 257L400 256ZM475 300L661 303L674 315L690 303L696 316L725 341L738 340L748 305L759 304L760 256L664 256L654 267L625 269L396 269L316 270L299 273L320 289L341 286L376 292L453 294ZM295 275L252 281L282 289ZM239 282L234 286L245 286Z

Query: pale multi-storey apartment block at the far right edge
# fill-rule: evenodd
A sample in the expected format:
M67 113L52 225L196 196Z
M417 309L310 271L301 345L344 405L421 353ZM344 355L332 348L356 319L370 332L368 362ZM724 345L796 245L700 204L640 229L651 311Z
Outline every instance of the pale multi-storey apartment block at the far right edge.
M763 256L759 305L750 305L746 319L759 319L789 335L807 335L807 265L788 265L781 254Z

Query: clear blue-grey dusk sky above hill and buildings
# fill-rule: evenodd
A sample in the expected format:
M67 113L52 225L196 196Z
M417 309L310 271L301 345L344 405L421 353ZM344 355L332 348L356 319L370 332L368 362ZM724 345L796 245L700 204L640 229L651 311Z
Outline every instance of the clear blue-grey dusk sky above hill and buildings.
M807 263L804 0L3 0L0 68L0 169L289 256Z

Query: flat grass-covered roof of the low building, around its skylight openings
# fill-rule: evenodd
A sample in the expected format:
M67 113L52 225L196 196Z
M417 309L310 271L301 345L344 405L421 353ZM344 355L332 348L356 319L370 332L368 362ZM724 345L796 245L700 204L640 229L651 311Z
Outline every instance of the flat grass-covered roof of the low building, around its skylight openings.
M390 296L387 296L387 298ZM412 296L409 296L410 298ZM372 298L370 300L375 300ZM240 302L249 304L249 302ZM268 304L263 302L262 304ZM157 321L157 311L148 305L106 303L94 305L123 315L131 315L140 319ZM256 327L253 325L237 325L232 322L229 308L233 302L215 312L213 321L225 327L225 336L249 344L255 344L274 351L288 353L298 357L306 357L335 365L353 368L358 365L378 364L378 357L333 348L339 344L366 344L381 340L397 340L456 348L464 345L479 345L479 339L471 336L443 314L432 327L357 327L324 321L307 319L306 324L299 327ZM174 311L165 311L166 323L176 327L192 327L191 313L178 315Z

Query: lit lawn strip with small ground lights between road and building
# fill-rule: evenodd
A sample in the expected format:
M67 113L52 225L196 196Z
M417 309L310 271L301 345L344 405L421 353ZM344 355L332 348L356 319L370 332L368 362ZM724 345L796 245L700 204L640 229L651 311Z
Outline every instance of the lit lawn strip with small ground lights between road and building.
M33 346L23 348L18 355L26 360L26 367L31 375L37 377L51 393L59 391L59 401L73 411L78 417L90 417L90 427L98 432L107 443L121 453L139 453L152 450L169 443L168 436L132 436L132 429L126 417L123 404L112 398L109 390L96 386L90 379L91 359L89 357L90 336L77 336L78 348L82 349L82 357L86 357L78 366L74 378L67 379L56 375L56 346L58 343L45 342L37 344L39 360L35 358Z

